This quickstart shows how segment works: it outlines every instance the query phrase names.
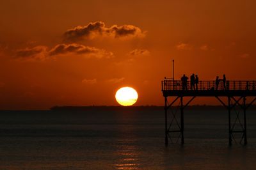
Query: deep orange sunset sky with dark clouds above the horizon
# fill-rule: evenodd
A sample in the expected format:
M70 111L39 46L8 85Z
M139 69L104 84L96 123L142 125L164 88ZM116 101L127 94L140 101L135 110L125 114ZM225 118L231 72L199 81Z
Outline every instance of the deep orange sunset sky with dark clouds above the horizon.
M0 109L118 105L122 86L138 91L136 105L163 105L171 59L177 79L256 79L255 8L256 1L0 1Z

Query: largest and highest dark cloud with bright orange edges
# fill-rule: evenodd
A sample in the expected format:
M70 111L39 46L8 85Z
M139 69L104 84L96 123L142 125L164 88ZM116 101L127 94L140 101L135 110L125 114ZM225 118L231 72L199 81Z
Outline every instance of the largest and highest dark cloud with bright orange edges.
M66 42L76 42L84 39L93 39L96 36L108 36L112 38L143 38L146 31L132 25L106 27L104 22L90 22L87 26L77 26L68 29L63 34Z

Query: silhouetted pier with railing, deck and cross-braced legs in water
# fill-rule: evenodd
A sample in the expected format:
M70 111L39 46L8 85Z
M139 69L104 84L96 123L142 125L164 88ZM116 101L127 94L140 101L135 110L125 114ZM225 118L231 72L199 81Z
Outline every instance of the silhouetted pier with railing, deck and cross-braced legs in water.
M184 144L184 109L196 97L214 97L227 109L229 145L238 143L234 134L241 134L239 143L247 144L246 110L256 100L256 81L220 81L218 87L215 81L199 81L197 89L191 89L189 81L184 88L182 81L164 79L162 92L166 145L169 142ZM188 102L184 103L184 98L188 98Z

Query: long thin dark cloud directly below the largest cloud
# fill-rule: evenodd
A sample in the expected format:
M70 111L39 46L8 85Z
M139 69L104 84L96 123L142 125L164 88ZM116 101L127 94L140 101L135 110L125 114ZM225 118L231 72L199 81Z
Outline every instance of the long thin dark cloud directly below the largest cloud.
M77 54L95 58L112 58L113 53L107 52L104 49L97 49L95 47L88 47L77 43L59 44L52 48L49 52L50 56L57 56L63 54Z

